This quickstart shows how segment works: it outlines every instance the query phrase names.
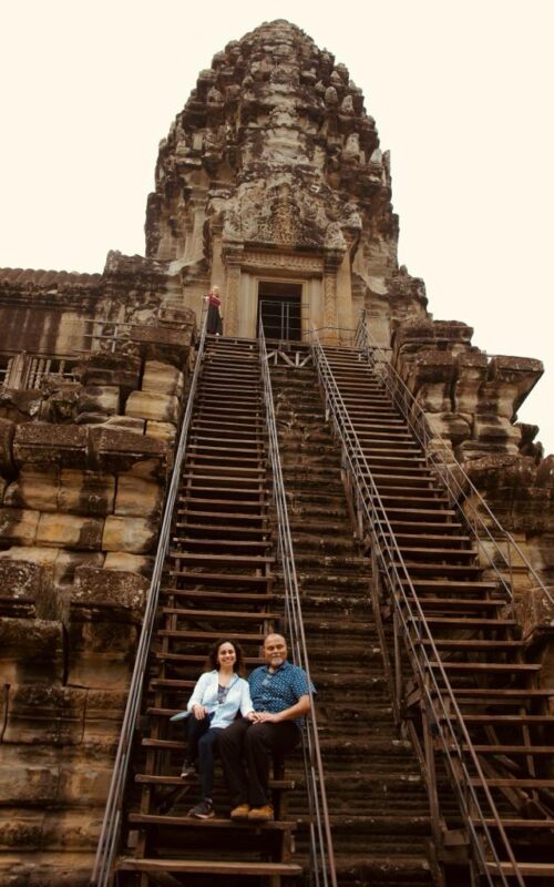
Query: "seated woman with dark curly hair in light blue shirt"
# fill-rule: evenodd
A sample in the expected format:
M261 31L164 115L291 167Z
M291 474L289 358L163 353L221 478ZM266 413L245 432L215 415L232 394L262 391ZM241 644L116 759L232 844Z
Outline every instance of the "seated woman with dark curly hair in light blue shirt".
M236 641L219 640L212 648L207 669L198 679L187 703L189 716L186 722L187 752L183 763L183 779L195 773L201 777L202 798L188 816L212 819L214 805L214 743L222 730L228 727L238 712L246 717L254 711L244 673L244 656Z

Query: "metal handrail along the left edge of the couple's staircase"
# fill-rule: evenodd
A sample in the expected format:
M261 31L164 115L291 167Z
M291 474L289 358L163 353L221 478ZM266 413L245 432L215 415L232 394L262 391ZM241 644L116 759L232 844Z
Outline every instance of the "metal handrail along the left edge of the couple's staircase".
M127 778L129 764L131 758L133 736L135 732L136 721L140 714L141 700L143 694L144 677L146 671L146 663L154 631L154 623L157 610L157 602L160 597L160 588L162 583L162 574L164 570L164 561L170 546L171 527L173 520L173 509L177 498L178 487L181 482L181 467L185 456L186 443L188 438L188 429L191 426L191 417L193 414L193 402L198 383L201 365L204 357L204 349L206 343L206 322L207 312L202 322L201 337L198 349L196 353L196 363L194 373L191 379L188 389L188 398L181 427L181 436L178 440L177 450L175 452L175 462L173 466L172 478L167 497L165 500L164 517L162 521L162 529L160 531L160 541L157 544L156 559L152 572L152 580L146 598L146 606L144 610L141 636L136 650L135 664L133 675L131 677L131 685L129 689L127 704L121 727L120 742L117 745L117 753L115 755L115 763L112 773L112 781L107 794L107 801L104 810L104 819L99 838L99 846L96 850L96 858L91 877L91 887L109 887L112 876L114 857L117 850L121 824L122 824L122 805L125 784Z

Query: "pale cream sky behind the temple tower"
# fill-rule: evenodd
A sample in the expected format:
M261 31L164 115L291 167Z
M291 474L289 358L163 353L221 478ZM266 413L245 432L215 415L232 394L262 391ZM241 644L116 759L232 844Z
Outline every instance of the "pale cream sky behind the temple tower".
M229 40L285 18L345 63L392 156L399 261L437 319L546 373L554 451L553 0L0 0L0 266L144 254L157 144Z

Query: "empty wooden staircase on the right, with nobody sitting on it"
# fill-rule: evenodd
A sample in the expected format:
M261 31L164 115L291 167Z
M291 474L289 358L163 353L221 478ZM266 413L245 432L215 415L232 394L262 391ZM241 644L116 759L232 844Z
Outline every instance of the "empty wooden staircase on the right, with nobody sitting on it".
M449 506L425 453L379 377L356 349L326 347L325 355L377 491L372 507L380 527L378 546L393 551L381 569L381 634L394 623L399 648L412 640L399 653L403 669L400 714L424 766L444 884L552 887L554 717L548 702L554 687L543 685L540 663L526 661L520 629L497 579L483 570L462 520ZM389 567L401 577L402 587L393 591L396 602L384 579ZM418 623L423 621L430 635L418 641ZM460 746L470 761L469 778L455 750L444 748L439 741L444 722L425 725L425 701L421 682L412 676L410 657L445 674L450 682L466 731L458 725ZM454 717L454 712L444 717ZM451 803L447 774L466 797L473 789L486 812L484 822L476 805L474 816L460 816ZM491 813L489 797L497 815ZM469 803L471 808L471 798ZM471 829L488 848L489 879L470 866ZM516 866L509 853L506 857L502 833Z

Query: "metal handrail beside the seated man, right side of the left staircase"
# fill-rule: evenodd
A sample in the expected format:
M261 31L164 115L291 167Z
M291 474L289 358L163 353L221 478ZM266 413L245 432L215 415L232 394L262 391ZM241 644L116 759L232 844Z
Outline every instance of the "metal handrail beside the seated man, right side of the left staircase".
M277 424L275 420L271 378L267 358L264 326L259 324L259 358L261 377L264 381L264 400L266 406L266 424L268 432L268 450L273 472L273 497L277 514L277 558L283 570L283 584L285 590L285 619L287 632L290 638L293 661L300 665L308 677L308 694L310 700L310 715L306 718L302 731L304 758L306 769L306 785L309 803L309 828L312 865L310 877L316 887L337 887L335 871L335 856L332 848L329 810L325 791L324 765L319 745L316 707L311 691L311 679L304 631L304 621L300 604L300 593L296 575L293 538L288 521L285 483L279 456L277 438Z

